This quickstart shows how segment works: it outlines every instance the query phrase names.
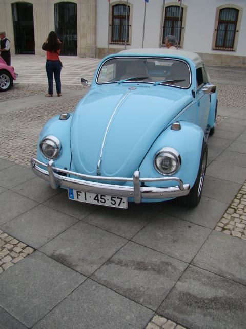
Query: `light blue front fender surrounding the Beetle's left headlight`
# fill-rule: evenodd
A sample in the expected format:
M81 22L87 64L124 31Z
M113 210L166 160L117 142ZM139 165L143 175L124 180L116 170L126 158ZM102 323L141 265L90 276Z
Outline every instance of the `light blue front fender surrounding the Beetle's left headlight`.
M46 122L42 131L40 132L38 143L37 143L37 159L48 163L49 160L46 159L40 151L39 144L40 141L48 135L53 135L57 137L61 144L60 155L54 160L55 166L59 168L70 169L71 163L71 147L70 147L70 127L72 121L73 113L70 113L70 117L67 120L59 120L59 115L53 117Z

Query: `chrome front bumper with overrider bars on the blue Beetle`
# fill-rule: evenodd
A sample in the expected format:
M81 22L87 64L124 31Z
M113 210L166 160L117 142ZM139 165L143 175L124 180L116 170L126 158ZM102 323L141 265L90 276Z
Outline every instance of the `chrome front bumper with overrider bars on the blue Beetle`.
M47 168L47 170L38 165ZM91 192L96 194L106 194L112 196L131 197L134 198L135 203L140 203L142 198L146 199L163 199L173 198L187 195L190 191L190 184L183 184L178 177L161 177L161 178L140 178L140 172L135 171L133 177L102 177L79 174L70 170L56 168L54 161L50 160L48 164L43 163L37 159L31 159L31 166L33 172L50 182L52 189L64 187L78 191ZM58 173L66 174L67 176L59 175ZM77 176L77 178L68 177L68 175ZM86 179L86 180L83 180ZM89 179L89 180L87 180ZM93 182L93 180L102 181L124 181L133 182L133 186L106 184L105 182ZM177 181L178 185L173 187L143 187L142 183L155 181Z

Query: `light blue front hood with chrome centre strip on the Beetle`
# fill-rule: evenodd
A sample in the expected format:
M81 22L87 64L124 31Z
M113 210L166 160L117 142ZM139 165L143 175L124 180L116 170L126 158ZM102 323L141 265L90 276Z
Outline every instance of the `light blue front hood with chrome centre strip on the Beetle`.
M101 158L101 176L131 177L160 132L191 101L185 90L166 86L91 90L73 115L74 169L96 175Z

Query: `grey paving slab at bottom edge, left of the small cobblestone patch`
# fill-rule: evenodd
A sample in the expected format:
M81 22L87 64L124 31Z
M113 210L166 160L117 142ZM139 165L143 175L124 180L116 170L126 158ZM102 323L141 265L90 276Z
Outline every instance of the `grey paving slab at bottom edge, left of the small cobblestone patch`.
M88 279L33 329L142 329L154 312Z

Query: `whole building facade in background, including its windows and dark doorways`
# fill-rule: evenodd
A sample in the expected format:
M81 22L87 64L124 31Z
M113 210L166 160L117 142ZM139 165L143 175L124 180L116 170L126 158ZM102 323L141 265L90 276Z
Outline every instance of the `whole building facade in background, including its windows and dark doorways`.
M103 57L129 48L178 47L209 64L246 66L246 0L0 0L0 30L12 53L44 54L55 30L69 56ZM180 11L181 9L181 11ZM145 24L144 24L145 23Z

